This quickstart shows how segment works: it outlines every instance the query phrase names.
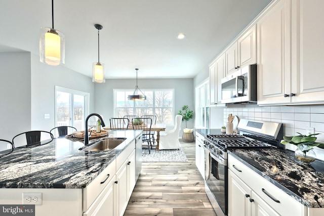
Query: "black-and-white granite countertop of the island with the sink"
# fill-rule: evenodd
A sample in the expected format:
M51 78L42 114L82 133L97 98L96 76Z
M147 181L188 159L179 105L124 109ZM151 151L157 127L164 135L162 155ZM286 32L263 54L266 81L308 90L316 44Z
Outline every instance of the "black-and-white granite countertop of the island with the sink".
M85 188L140 133L111 132L110 136L127 140L108 151L80 151L83 142L66 138L36 147L16 148L0 158L0 188Z

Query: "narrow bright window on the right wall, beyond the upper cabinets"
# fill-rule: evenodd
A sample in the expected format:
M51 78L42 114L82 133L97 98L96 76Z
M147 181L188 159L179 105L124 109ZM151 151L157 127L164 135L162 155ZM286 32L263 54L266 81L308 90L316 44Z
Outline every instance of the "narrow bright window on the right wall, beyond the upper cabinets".
M196 127L209 128L209 80L205 80L195 89Z

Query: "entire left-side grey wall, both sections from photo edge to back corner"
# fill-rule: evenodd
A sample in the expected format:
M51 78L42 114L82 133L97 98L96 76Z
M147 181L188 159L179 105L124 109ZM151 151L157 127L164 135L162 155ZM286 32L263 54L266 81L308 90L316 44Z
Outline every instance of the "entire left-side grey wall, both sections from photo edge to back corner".
M89 111L95 111L95 84L88 76L43 64L29 52L0 53L0 71L0 139L12 140L36 129L50 131L55 126L55 85L90 93Z

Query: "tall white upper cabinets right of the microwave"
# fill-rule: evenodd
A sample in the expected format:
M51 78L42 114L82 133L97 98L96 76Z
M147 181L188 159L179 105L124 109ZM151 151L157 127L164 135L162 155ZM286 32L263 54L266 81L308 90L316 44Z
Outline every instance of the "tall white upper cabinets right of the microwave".
M258 104L322 104L324 1L277 1L257 22Z

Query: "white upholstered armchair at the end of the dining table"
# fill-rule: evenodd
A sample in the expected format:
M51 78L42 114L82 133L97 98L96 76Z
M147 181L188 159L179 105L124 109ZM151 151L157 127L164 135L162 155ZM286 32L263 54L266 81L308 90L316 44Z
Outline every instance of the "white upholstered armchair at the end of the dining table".
M182 115L176 115L175 125L171 131L165 134L160 134L158 149L179 149L179 131L181 125Z

